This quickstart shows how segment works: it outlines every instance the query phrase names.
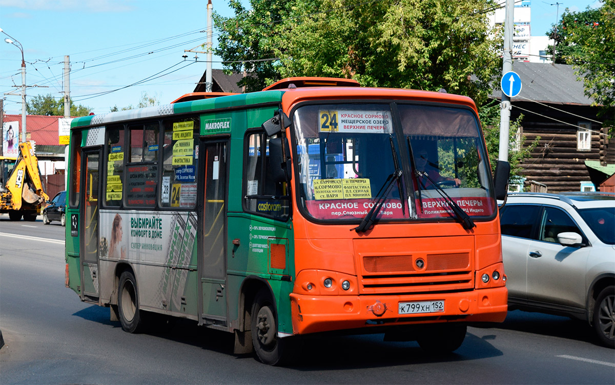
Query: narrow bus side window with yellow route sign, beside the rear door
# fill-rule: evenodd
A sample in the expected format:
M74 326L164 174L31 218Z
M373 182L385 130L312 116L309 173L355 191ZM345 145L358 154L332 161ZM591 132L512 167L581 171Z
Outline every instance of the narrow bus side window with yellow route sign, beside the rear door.
M124 126L107 129L105 205L118 207L122 203L124 185Z

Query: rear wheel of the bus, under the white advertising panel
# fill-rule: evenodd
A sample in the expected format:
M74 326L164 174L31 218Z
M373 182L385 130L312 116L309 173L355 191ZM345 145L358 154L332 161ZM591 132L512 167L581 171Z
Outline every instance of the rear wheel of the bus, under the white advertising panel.
M130 271L122 272L117 288L117 312L122 330L138 333L143 328L143 318L139 309L137 280Z

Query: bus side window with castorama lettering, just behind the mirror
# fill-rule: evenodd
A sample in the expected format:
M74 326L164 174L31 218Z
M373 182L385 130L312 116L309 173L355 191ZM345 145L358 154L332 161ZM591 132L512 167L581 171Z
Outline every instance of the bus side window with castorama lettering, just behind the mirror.
M245 137L244 209L258 215L287 220L290 200L286 182L276 183L271 177L269 137L264 132L248 133Z

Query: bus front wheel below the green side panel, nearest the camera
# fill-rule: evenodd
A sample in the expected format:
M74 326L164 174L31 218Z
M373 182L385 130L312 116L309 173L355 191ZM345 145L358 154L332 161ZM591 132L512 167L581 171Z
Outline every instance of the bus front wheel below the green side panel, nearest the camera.
M256 357L267 365L288 363L290 339L277 336L276 305L267 290L260 290L252 304L252 343Z

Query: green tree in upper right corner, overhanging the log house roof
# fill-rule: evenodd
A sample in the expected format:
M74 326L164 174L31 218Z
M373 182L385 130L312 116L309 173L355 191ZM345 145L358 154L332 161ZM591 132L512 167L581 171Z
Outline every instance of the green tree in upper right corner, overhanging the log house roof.
M603 106L605 125L613 125L615 108L615 0L605 0L599 9L587 7L582 12L561 15L550 36L557 42L557 62L571 64L579 80L584 82L585 95L595 105ZM550 47L552 53L553 48Z

